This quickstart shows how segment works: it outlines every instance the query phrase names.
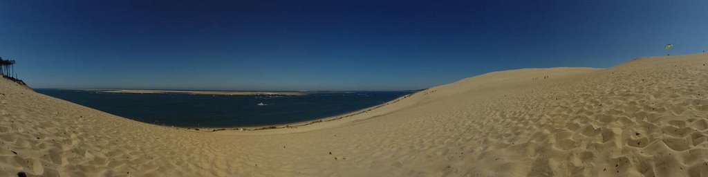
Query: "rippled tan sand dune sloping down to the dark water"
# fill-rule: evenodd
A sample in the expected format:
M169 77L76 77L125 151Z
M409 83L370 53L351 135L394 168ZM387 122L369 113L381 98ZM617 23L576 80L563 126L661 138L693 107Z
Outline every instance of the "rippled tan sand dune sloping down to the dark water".
M492 72L246 132L148 125L0 79L0 176L708 176L706 65Z

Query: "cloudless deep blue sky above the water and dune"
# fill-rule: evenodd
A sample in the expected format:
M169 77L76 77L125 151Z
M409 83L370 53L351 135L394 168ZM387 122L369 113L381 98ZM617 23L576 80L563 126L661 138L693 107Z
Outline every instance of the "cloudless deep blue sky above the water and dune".
M34 88L406 90L708 50L708 1L0 1ZM668 52L664 45L674 45Z

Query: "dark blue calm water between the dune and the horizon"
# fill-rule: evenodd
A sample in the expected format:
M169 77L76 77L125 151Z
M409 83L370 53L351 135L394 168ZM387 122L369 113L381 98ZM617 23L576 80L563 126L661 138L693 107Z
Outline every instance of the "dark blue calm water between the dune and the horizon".
M392 101L408 91L314 93L302 96L212 96L35 89L124 118L180 127L234 127L301 122ZM258 105L263 103L265 105Z

